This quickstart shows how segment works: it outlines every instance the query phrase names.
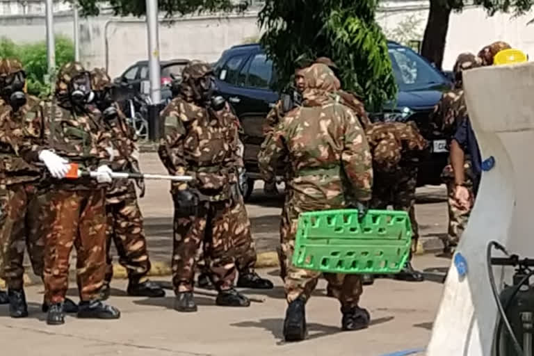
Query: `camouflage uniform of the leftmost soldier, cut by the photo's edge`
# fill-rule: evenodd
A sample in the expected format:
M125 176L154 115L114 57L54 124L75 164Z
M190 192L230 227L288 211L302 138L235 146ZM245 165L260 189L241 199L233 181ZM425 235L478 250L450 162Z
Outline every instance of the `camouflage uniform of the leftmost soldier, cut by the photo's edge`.
M0 83L22 71L18 60L1 60ZM42 275L43 243L37 232L41 172L20 156L24 123L39 115L39 99L26 96L26 104L16 111L4 99L0 100L0 271L10 290L22 290L26 247L34 273Z

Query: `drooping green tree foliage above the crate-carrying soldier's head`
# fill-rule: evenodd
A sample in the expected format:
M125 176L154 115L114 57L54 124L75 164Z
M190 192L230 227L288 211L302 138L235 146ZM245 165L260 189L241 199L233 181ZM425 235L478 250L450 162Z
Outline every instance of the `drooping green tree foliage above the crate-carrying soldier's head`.
M277 68L276 87L291 81L298 58L332 58L343 87L368 110L396 95L387 40L375 22L375 0L267 0L259 13L261 44Z

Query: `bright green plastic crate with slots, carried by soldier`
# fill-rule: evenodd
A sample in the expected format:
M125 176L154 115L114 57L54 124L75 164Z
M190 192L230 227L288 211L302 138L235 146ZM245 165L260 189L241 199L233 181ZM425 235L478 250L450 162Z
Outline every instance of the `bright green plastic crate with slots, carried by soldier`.
M398 273L412 245L405 211L355 209L301 213L293 265L331 273Z

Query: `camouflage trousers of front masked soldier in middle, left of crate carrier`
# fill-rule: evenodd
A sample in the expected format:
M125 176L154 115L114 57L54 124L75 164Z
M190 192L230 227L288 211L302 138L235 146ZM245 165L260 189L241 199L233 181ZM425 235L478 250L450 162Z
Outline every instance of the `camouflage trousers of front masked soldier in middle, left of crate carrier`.
M238 202L201 202L196 211L175 208L172 284L175 292L193 291L201 245L216 289L232 289L236 277L232 211ZM177 204L175 204L175 207Z

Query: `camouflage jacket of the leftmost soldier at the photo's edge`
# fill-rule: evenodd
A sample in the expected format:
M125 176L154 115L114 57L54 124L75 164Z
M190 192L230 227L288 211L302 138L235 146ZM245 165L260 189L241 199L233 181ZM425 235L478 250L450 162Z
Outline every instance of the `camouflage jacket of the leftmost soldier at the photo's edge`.
M40 179L41 170L20 156L25 134L26 118L39 115L39 99L26 97L26 104L13 112L10 105L0 99L0 184L30 183Z

